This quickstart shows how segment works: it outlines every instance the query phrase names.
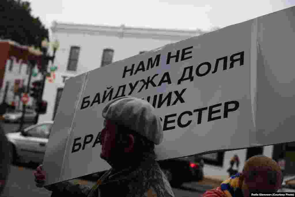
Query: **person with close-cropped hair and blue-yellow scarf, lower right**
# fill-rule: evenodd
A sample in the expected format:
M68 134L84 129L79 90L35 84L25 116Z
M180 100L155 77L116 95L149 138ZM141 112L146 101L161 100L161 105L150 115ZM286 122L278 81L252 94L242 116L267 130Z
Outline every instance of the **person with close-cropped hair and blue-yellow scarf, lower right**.
M241 173L209 190L203 197L249 197L251 193L277 192L282 184L282 172L278 163L264 155L248 159Z

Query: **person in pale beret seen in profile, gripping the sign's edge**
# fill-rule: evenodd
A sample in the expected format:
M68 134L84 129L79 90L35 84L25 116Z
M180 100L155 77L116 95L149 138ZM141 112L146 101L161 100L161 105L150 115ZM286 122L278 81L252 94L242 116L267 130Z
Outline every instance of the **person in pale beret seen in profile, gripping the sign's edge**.
M135 97L121 97L106 105L99 142L100 157L111 165L92 188L70 182L47 185L59 195L105 197L174 197L171 186L155 161L155 144L163 140L160 118L149 102ZM42 165L34 172L37 187L43 187Z

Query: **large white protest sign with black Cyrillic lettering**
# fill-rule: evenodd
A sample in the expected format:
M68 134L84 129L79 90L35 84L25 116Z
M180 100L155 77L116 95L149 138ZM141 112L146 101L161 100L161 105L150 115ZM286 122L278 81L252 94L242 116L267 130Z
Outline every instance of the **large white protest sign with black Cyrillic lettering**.
M101 111L148 100L158 159L294 141L295 7L166 45L68 79L44 159L52 184L109 169ZM128 49L126 49L128 50Z

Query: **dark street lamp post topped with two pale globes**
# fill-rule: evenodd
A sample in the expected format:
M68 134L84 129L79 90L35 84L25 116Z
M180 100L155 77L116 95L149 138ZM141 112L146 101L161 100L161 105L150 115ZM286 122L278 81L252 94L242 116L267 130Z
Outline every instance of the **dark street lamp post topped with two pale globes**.
M42 57L42 75L43 75L43 79L42 79L42 88L41 88L41 92L39 94L39 97L37 99L37 103L42 102L42 96L43 96L44 86L45 86L45 81L46 81L46 76L47 76L48 62L51 61L52 64L53 64L56 50L59 47L59 42L58 42L58 40L55 40L55 42L52 43L53 56L47 55L47 49L48 49L48 46L49 46L49 42L48 42L47 39L42 41L41 46L42 46L42 52L43 52L43 57ZM39 110L38 110L37 115L35 117L35 124L38 123L38 119L39 119Z

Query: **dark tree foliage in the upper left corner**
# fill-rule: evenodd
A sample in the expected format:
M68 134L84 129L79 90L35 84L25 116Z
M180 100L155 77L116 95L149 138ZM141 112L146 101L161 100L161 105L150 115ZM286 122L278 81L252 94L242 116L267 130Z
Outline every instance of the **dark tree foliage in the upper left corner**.
M39 17L31 15L30 2L21 0L1 0L0 38L10 39L21 45L41 48L41 42L48 37L48 30Z

